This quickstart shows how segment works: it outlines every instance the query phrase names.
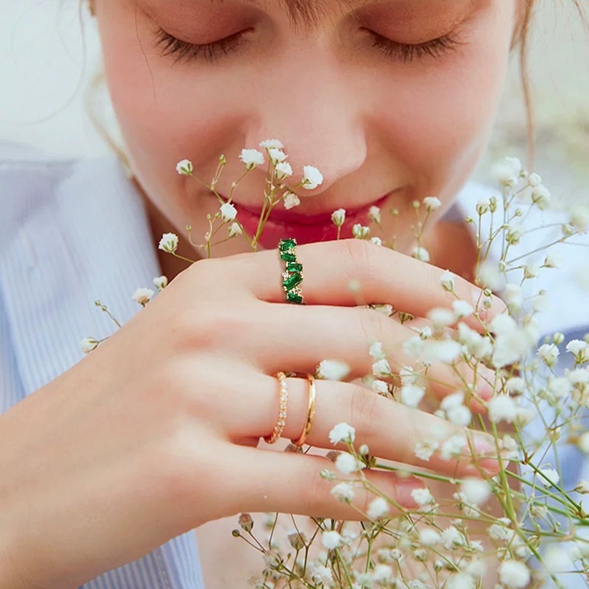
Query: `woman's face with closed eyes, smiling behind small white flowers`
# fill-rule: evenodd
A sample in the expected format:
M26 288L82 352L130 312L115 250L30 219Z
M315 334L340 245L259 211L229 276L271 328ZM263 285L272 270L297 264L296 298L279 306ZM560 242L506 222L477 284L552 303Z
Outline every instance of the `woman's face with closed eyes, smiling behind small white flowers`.
M323 12L304 19L278 0L96 4L112 102L164 231L187 237L190 224L192 240L203 243L206 215L219 210L206 187L177 174L178 161L191 160L195 176L210 183L224 154L217 191L227 197L244 171L241 149L277 138L294 171L291 186L306 164L324 179L297 190L298 207L274 209L263 247L279 237L334 239L329 217L339 208L348 211L349 237L376 203L384 235L375 234L395 233L402 251L413 244L412 201L438 197L441 216L488 142L517 8L517 0L325 0ZM181 54L170 53L166 34L185 42L176 44ZM186 47L224 38L223 47L196 55ZM262 207L265 178L260 166L234 191L244 224L246 209ZM248 249L238 236L212 254Z

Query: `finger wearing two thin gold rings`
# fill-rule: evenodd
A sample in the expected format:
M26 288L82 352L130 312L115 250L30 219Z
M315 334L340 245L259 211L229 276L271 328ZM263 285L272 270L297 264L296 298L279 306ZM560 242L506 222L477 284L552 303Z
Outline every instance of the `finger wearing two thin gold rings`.
M270 435L277 419L278 382L267 375L247 379L256 394L241 394L239 419L227 415L231 436L260 437ZM306 423L308 389L304 378L287 378L288 403L283 438L297 439ZM403 464L425 467L448 476L480 474L481 469L497 474L494 439L482 432L461 428L429 413L418 411L391 399L385 399L353 383L335 380L316 381L316 409L306 443L330 449L329 432L345 422L356 430L356 444L368 444L370 454ZM434 448L424 458L419 445ZM495 458L493 458L495 456Z

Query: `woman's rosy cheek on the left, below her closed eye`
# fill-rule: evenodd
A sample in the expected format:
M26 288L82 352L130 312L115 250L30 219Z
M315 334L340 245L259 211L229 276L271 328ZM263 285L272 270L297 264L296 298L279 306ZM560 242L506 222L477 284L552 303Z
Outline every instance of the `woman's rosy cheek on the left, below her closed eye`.
M222 90L219 77L161 57L153 33L145 24L137 26L135 34L133 19L114 9L112 18L101 19L112 105L136 166L144 173L159 168L174 177L176 163L185 157L195 166L216 163L227 148L228 133L236 128L230 105L223 104L232 93Z

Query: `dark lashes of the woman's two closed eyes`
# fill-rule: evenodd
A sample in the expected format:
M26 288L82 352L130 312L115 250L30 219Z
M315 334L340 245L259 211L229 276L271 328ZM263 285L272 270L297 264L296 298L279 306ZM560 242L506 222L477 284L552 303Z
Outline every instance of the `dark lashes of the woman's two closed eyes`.
M452 51L456 45L460 45L461 41L452 34L444 35L425 43L416 45L398 43L391 41L374 31L366 31L372 37L372 47L376 47L382 51L386 58L396 59L402 62L413 61L413 59L421 59L429 55L430 57L439 57L446 52ZM186 59L191 61L193 59L203 58L207 63L212 64L217 59L219 52L227 55L235 51L244 41L243 34L246 31L240 31L219 41L211 43L195 44L187 41L181 41L170 35L168 32L161 29L157 32L155 45L162 46L162 55L175 55L174 63Z

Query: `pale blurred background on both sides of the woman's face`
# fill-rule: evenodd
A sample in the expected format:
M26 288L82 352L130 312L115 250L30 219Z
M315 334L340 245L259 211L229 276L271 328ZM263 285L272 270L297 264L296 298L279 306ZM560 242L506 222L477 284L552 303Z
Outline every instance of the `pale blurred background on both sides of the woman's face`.
M555 198L589 201L589 31L573 0L540 2L530 49L534 171ZM104 153L108 147L84 102L99 54L95 23L85 7L80 19L77 0L0 0L0 140L33 144L55 156ZM99 93L98 100L116 137L107 94ZM503 155L525 165L524 112L516 53L476 179L488 181L491 161Z

